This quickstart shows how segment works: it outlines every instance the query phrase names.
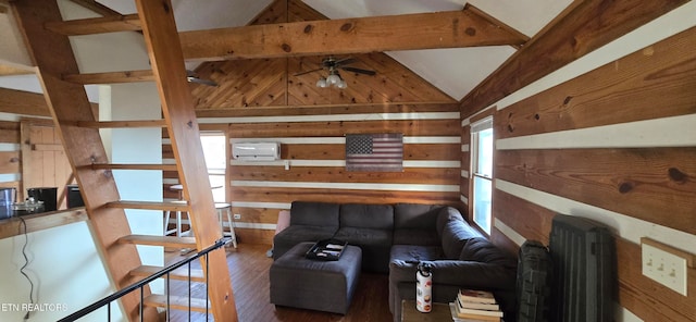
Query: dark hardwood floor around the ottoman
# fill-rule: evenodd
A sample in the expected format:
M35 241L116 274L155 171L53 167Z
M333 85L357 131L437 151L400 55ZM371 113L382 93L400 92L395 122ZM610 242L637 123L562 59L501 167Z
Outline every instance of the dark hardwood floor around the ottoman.
M269 269L273 260L265 256L268 245L239 244L237 249L227 248L232 288L235 294L240 322L301 321L301 322L388 322L391 313L388 306L388 277L386 274L361 273L358 289L346 315L286 307L275 307L269 302ZM167 252L167 262L181 259L176 252ZM199 268L198 261L191 268ZM171 281L172 295L186 296L188 284ZM203 284L191 285L194 297L203 298ZM212 321L212 314L209 321ZM188 312L173 310L171 321L189 321ZM204 313L191 312L190 321L206 321Z

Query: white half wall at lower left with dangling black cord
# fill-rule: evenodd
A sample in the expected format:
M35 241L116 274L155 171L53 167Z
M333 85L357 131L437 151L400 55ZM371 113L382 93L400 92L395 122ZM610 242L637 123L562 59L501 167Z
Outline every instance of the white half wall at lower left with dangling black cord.
M20 272L26 263L25 243L24 272L34 283L33 301L32 286ZM32 302L40 307L33 309L28 321L55 321L112 293L86 222L0 239L0 321L22 321L24 306ZM103 317L84 321L104 321ZM121 312L114 310L113 317L119 321Z

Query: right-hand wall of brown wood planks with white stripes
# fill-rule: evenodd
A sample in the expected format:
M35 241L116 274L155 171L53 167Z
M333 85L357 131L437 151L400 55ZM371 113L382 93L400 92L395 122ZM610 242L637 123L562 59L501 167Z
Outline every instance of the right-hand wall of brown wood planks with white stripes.
M620 309L617 320L696 320L696 270L682 296L642 275L639 246L648 236L696 253L694 44L691 27L600 66L580 62L587 73L547 81L547 88L527 88L531 96L513 94L488 110L496 137L492 239L511 251L525 239L547 244L556 213L607 224L617 239L617 301L629 311ZM463 164L478 115L462 116Z

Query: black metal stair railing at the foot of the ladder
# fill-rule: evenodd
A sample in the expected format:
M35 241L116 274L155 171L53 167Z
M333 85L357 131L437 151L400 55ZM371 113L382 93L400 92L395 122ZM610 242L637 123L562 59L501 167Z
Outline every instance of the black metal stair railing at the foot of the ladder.
M150 276L148 276L148 277L135 283L135 284L132 284L132 285L129 285L129 286L127 286L127 287L125 287L125 288L123 288L123 289L110 295L110 296L107 296L107 297L104 297L104 298L102 298L102 299L100 299L100 300L98 300L98 301L85 307L84 309L82 309L79 311L76 311L76 312L74 312L74 313L72 313L72 314L70 314L70 315L67 315L67 317L65 317L65 318L63 318L61 320L58 320L58 322L76 321L78 319L84 318L85 315L87 315L89 313L95 312L96 310L101 309L102 307L107 307L107 321L111 321L111 305L112 305L112 302L117 300L117 299L120 299L120 298L122 298L123 296L134 292L134 290L137 290L137 289L140 289L140 306L139 306L140 312L139 313L140 313L140 321L142 322L142 309L144 309L144 300L145 300L144 287L145 287L145 285L149 284L150 282L152 282L152 281L154 281L157 278L160 278L160 277L162 277L164 275L166 275L166 314L167 314L166 321L169 321L170 320L169 319L169 313L170 313L170 273L172 271L183 267L183 265L186 265L186 264L188 264L188 285L189 285L189 287L188 287L189 288L189 293L188 293L188 317L189 317L189 321L190 321L190 314L191 314L191 294L190 294L191 265L190 265L190 262L196 260L196 259L199 259L199 258L201 258L203 256L206 257L206 270L204 270L204 272L206 272L206 302L208 302L208 272L209 272L208 271L208 253L213 251L213 250L215 250L215 249L217 249L217 248L221 248L221 247L229 244L231 242L232 242L232 238L223 237L223 238L219 239L217 242L215 242L210 247L208 247L208 248L206 248L206 249L203 249L203 250L201 250L201 251L199 251L197 253L194 253L194 255L187 257L186 259L184 259L182 261L178 261L178 262L176 262L176 263L174 263L172 265L169 265L169 267L162 269L161 271L159 271L159 272L157 272L157 273L154 273L154 274L152 274L152 275L150 275ZM206 305L206 317L209 315L208 314L208 309L209 309L209 306ZM208 321L208 320L206 320L206 321Z

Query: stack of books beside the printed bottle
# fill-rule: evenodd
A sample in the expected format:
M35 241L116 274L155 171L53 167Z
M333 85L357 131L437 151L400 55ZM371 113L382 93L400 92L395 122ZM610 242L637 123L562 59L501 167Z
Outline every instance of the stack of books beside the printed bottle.
M500 321L502 318L502 311L490 292L460 289L449 307L456 322Z

